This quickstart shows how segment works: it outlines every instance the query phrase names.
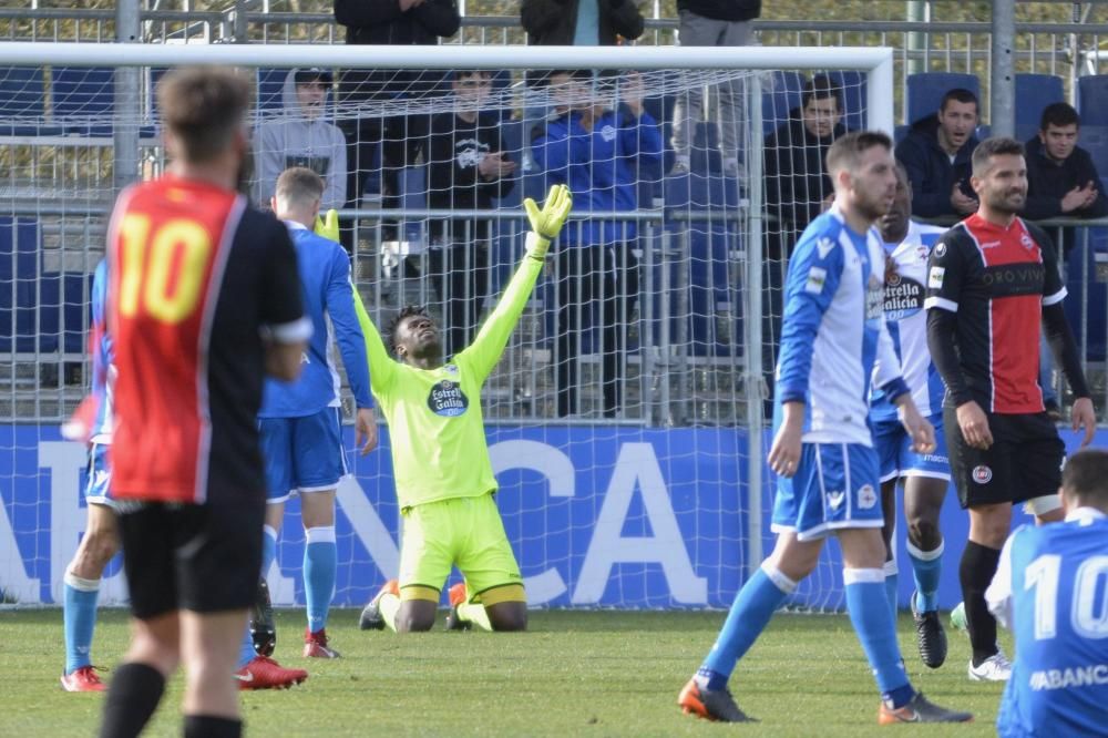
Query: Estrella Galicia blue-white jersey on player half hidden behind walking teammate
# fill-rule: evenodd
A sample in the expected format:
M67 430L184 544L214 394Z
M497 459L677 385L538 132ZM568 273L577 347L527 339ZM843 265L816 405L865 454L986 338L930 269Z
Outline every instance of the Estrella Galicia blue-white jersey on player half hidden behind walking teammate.
M885 283L885 325L901 360L904 382L912 390L915 407L924 417L943 411L946 387L927 348L927 257L946 228L909 221L907 234L899 244L885 244L885 253L896 274ZM896 407L874 388L870 417L874 422L896 420Z

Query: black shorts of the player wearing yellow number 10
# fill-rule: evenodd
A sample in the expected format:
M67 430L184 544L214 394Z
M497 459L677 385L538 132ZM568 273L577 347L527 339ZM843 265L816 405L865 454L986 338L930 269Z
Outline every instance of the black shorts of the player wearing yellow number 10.
M121 502L131 613L219 613L254 604L261 574L265 503Z

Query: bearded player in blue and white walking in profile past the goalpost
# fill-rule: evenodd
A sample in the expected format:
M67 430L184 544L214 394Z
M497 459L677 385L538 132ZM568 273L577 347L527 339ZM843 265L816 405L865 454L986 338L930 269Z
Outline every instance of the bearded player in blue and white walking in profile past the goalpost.
M778 475L773 553L739 591L708 656L680 691L686 713L728 722L750 718L727 688L739 658L773 612L819 561L823 540L839 539L851 623L881 691L878 721L971 720L913 689L896 645L885 595L885 545L878 457L870 432L871 381L896 404L919 451L934 449L901 378L883 315L884 252L874 222L896 187L892 142L855 132L828 151L835 202L813 221L789 263L769 465Z

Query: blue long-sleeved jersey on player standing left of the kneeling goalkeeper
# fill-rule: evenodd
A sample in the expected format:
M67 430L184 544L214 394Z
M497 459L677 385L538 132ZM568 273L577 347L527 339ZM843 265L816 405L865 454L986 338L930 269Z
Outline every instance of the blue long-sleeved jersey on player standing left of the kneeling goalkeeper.
M372 408L366 339L353 307L350 259L334 240L317 236L299 223L288 222L296 247L304 296L304 314L312 324L311 340L300 359L299 379L267 379L259 418L304 418L341 404L341 380L335 365L335 345L342 353L350 391L359 408Z

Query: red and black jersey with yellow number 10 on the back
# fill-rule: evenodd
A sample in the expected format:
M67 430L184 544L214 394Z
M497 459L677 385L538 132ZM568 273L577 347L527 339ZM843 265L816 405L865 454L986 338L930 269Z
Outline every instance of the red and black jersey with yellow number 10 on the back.
M285 226L233 191L165 176L120 195L107 259L113 496L263 496L263 332L310 332Z

